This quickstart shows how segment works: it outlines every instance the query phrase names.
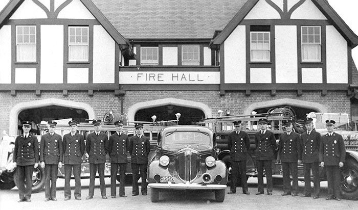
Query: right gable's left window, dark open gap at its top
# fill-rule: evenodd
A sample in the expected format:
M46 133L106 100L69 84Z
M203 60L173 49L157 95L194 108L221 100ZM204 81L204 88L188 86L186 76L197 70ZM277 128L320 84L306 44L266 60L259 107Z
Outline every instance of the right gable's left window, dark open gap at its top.
M252 25L250 29L250 61L270 62L270 25Z

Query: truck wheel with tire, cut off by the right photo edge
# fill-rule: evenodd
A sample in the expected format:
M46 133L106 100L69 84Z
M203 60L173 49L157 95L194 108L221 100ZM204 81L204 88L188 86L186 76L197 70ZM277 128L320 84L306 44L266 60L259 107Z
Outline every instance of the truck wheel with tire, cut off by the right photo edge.
M342 197L348 200L358 200L358 163L347 159L341 169Z

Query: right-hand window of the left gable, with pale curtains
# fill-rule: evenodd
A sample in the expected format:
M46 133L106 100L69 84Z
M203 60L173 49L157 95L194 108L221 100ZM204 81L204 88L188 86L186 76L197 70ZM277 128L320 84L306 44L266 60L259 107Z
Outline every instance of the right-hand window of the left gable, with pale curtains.
M69 61L88 61L88 27L69 27Z

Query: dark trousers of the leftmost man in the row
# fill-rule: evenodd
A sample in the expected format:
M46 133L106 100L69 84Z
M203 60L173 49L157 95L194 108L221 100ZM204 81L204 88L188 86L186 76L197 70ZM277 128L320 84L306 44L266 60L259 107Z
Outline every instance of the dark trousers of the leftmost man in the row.
M32 173L34 172L34 165L17 166L17 187L20 200L31 198L32 189Z

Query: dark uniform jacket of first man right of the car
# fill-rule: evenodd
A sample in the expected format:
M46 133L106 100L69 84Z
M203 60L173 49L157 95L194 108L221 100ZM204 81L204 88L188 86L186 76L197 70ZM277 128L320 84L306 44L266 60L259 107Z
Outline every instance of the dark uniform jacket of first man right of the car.
M234 130L229 134L228 148L231 153L231 161L246 160L250 149L249 135L242 130L237 134Z

